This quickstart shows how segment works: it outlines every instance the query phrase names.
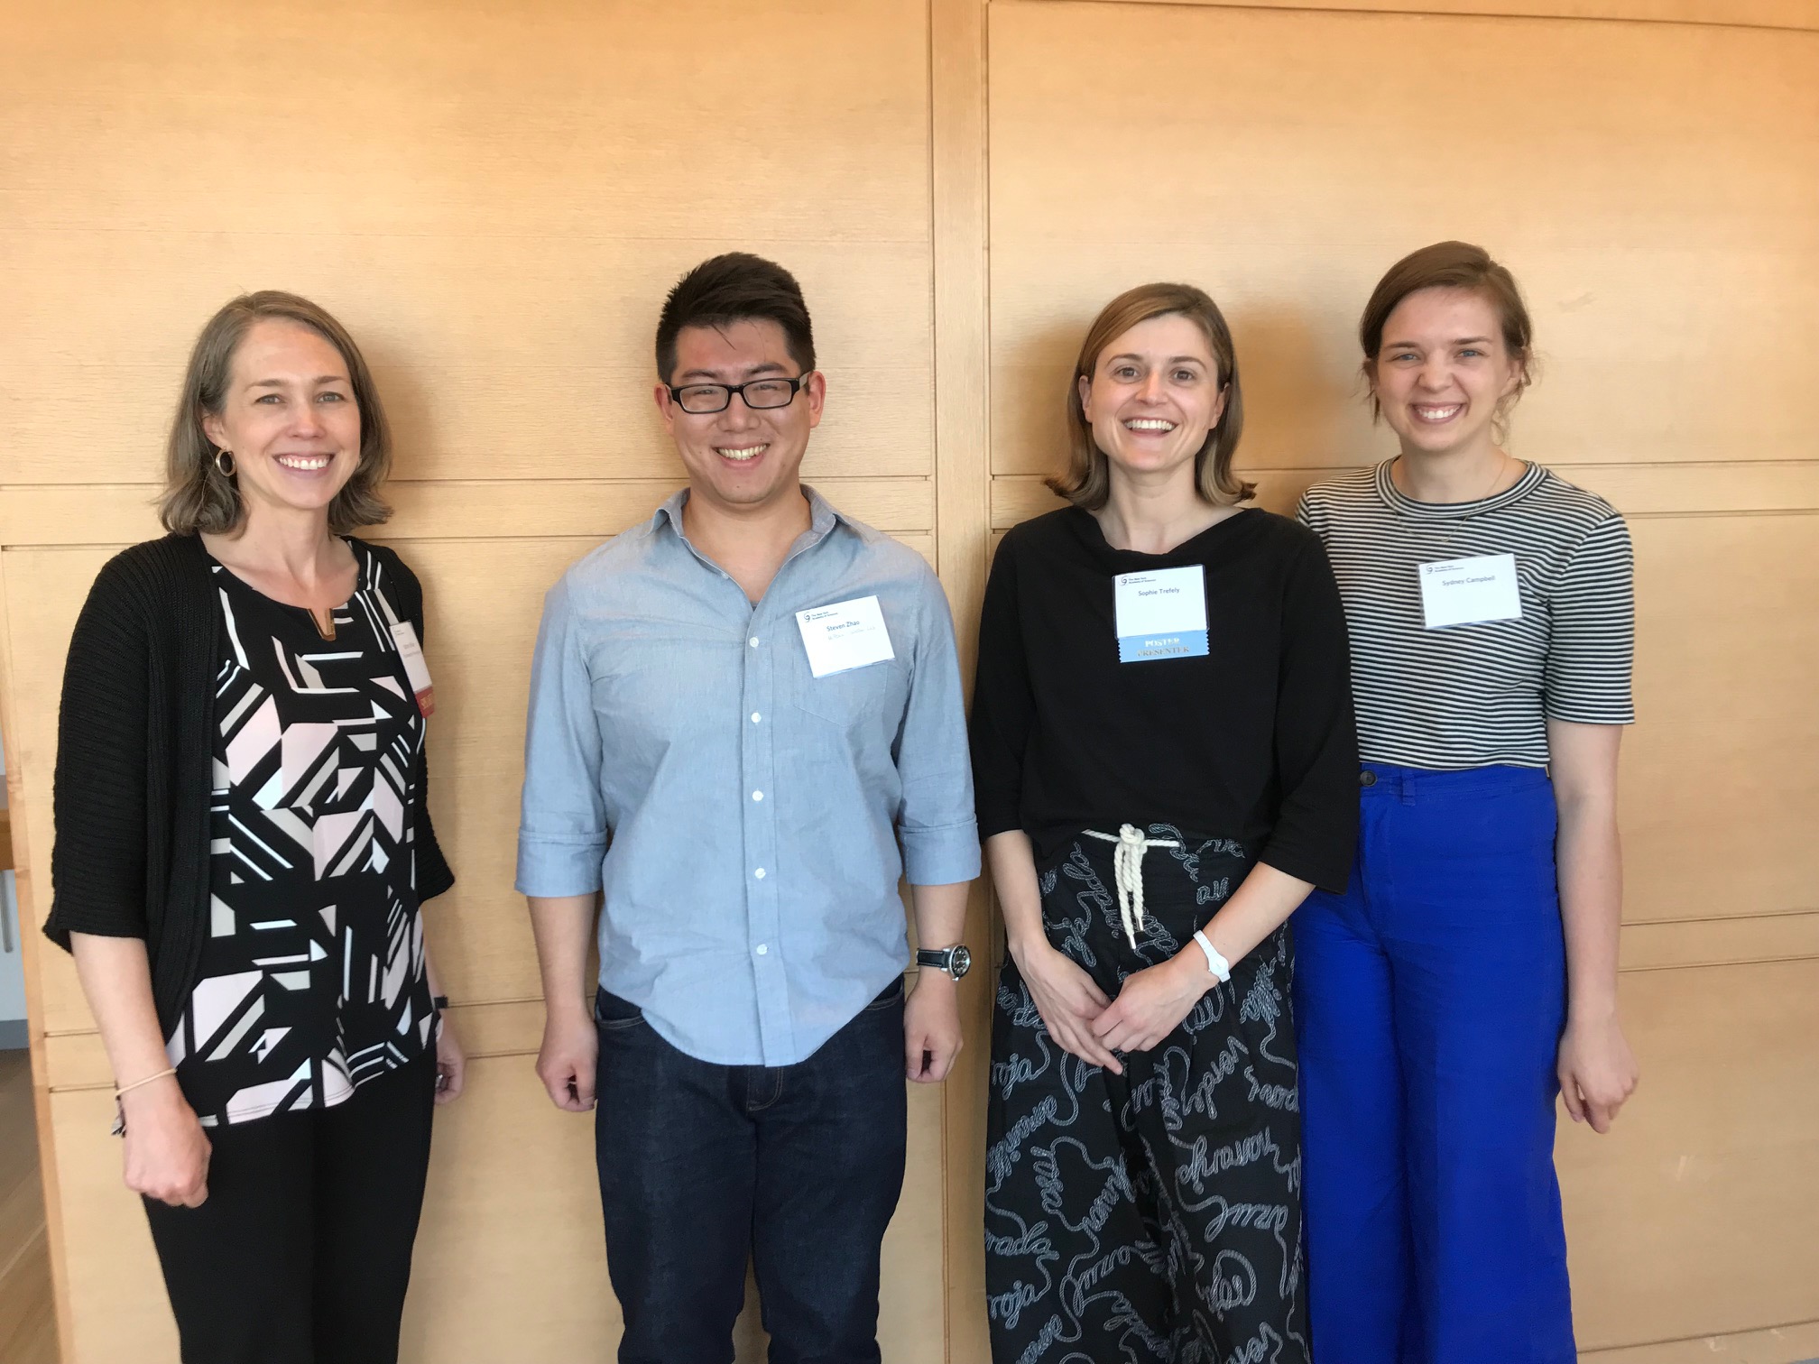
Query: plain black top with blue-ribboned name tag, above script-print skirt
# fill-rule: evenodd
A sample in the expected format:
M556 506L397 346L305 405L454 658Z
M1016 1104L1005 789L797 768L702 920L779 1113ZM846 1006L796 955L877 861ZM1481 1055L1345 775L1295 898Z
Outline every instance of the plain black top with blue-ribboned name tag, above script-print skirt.
M1113 578L1199 566L1210 653L1119 662ZM1359 767L1346 622L1321 542L1246 509L1166 555L1066 507L999 546L973 691L979 835L1037 866L1086 827L1175 824L1342 891Z

